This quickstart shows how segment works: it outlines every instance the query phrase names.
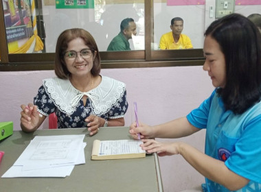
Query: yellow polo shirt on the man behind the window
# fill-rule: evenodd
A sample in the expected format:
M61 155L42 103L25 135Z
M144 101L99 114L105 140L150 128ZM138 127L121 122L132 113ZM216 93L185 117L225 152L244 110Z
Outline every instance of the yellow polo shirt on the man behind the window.
M167 34L163 34L161 36L161 40L159 42L160 49L191 49L193 45L188 36L181 34L179 37L179 41L177 43L174 42L174 38L172 36L172 32Z

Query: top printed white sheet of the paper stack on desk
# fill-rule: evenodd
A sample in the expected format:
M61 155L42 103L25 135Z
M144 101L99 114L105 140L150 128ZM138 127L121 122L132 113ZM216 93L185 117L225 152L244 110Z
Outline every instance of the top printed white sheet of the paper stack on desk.
M35 136L14 165L23 165L23 170L76 165L84 136Z

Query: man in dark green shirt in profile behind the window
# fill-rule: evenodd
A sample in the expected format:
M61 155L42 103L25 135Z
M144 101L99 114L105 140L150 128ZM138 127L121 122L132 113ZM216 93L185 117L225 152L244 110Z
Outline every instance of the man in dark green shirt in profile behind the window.
M117 34L111 40L107 51L128 51L131 50L129 39L132 38L132 35L136 35L136 24L132 18L126 18L122 20L120 24L120 33Z

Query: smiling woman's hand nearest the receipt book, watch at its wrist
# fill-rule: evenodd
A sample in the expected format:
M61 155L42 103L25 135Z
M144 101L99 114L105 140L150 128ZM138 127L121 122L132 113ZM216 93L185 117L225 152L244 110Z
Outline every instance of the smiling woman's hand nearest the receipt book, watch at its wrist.
M101 117L95 116L95 115L90 115L85 119L86 121L88 130L90 132L90 135L96 134L99 131L100 127L103 127L105 123L105 119L102 119Z

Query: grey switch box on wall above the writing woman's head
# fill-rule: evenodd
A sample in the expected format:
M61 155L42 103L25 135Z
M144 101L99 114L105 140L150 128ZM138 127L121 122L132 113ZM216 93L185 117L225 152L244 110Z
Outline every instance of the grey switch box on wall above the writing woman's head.
M216 0L216 18L234 13L235 0Z

